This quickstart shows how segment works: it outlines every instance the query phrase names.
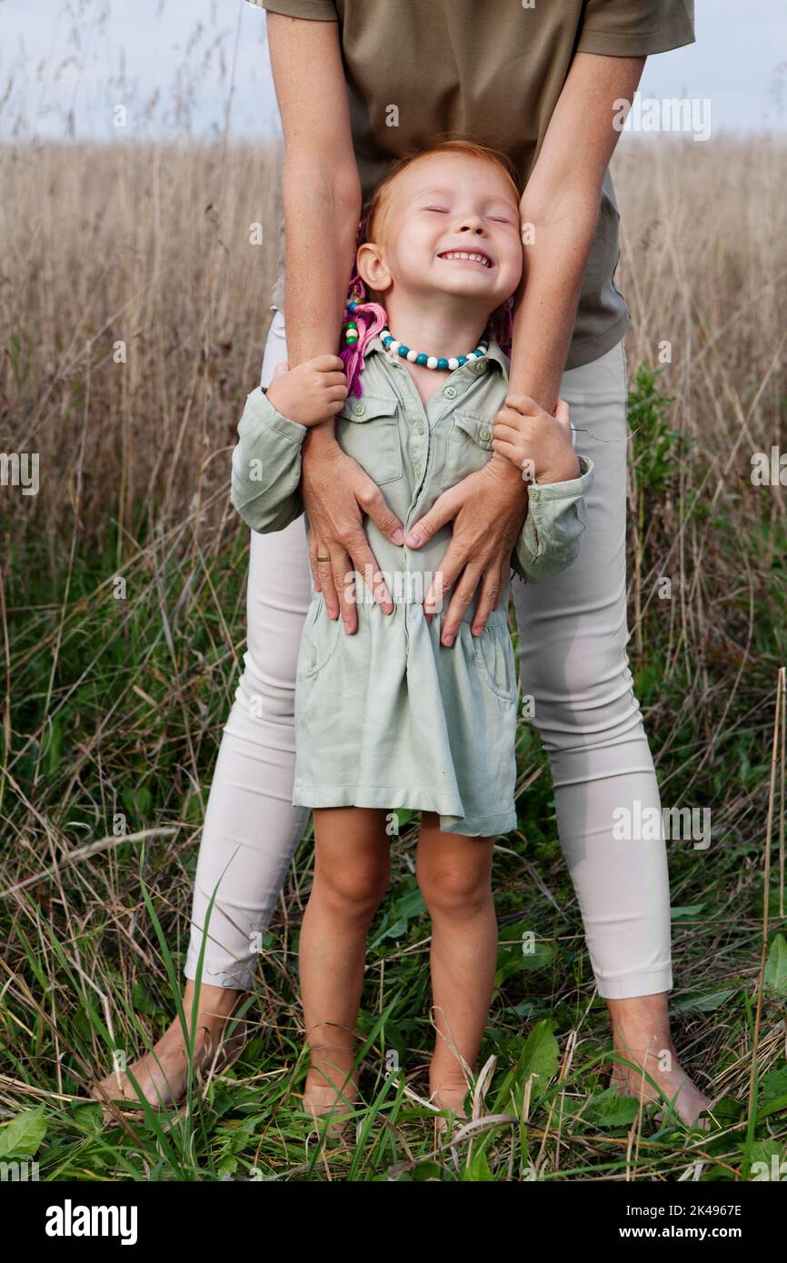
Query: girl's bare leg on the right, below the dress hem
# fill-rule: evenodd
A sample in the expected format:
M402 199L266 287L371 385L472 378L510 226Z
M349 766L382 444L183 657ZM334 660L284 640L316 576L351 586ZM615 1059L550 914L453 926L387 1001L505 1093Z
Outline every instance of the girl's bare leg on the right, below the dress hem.
M498 962L491 851L491 837L443 834L435 812L422 813L416 873L432 918L437 1027L430 1092L433 1104L456 1113L469 1087L466 1070L476 1068Z

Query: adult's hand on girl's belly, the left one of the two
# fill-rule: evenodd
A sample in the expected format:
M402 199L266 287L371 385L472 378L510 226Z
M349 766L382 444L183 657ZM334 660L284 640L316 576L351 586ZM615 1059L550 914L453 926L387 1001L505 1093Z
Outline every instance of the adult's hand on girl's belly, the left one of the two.
M315 587L325 594L328 618L341 616L345 632L357 628L355 573L371 576L374 599L385 614L393 610L376 558L364 530L364 514L394 544L404 529L388 508L376 482L342 452L333 426L309 429L301 455L301 494L309 520L309 566ZM327 558L320 560L320 558Z

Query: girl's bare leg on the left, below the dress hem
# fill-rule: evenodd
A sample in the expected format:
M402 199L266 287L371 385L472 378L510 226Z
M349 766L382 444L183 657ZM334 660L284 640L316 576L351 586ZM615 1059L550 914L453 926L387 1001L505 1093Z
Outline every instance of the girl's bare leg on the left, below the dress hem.
M385 811L318 807L315 880L301 928L301 998L311 1068L303 1108L315 1119L340 1120L357 1096L355 1024L361 998L366 933L390 871ZM341 1122L328 1128L341 1129Z

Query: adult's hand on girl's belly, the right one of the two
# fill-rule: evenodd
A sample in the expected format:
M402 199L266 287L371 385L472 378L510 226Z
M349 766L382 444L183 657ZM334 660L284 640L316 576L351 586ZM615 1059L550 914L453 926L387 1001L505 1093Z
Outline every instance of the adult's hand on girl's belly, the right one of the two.
M469 474L456 486L443 491L430 512L408 530L407 546L419 548L441 527L454 522L454 536L438 577L430 585L423 601L428 619L436 613L436 602L442 594L456 584L443 619L441 644L454 644L479 582L481 587L472 634L480 635L486 626L490 613L498 608L526 513L527 482L512 461L495 452L483 470Z

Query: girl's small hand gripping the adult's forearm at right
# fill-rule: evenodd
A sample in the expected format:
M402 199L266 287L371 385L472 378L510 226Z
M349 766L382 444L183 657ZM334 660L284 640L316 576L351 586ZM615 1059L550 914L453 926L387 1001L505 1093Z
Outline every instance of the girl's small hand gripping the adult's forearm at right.
M491 446L528 482L566 482L580 476L571 446L568 404L558 399L555 416L528 395L508 395L491 427Z

